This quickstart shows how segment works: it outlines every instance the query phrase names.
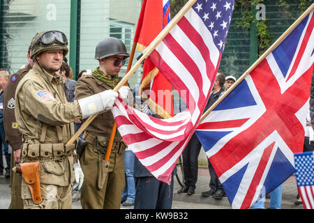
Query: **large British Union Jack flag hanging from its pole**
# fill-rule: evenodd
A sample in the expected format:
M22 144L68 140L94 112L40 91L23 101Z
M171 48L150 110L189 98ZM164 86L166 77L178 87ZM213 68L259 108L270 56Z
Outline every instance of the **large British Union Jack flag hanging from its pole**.
M249 208L294 173L308 112L313 24L312 11L197 127L232 208Z

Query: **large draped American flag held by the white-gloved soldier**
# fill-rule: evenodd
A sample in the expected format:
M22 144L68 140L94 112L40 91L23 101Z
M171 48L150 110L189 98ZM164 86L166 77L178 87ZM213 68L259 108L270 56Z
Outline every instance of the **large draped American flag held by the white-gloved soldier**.
M112 109L128 148L165 183L170 184L174 166L209 98L233 4L234 1L196 1L149 56L186 102L184 112L158 119L128 107L121 98Z

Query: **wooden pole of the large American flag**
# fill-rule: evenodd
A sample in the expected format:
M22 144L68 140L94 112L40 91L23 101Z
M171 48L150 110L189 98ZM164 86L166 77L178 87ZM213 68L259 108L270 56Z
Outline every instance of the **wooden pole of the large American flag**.
M158 36L156 36L156 38L151 42L151 44L144 50L144 52L142 52L142 56L140 57L140 59L135 63L135 65L126 73L126 75L124 76L123 79L121 79L121 81L117 84L117 86L113 89L114 92L118 92L119 89L121 89L121 86L124 86L124 84L126 84L126 82L128 82L128 79L133 75L133 73L137 70L137 68L140 67L142 61L144 61L144 59L151 54L151 52L153 52L153 50L157 47L157 45L163 40L163 38L165 38L165 36L167 35L167 33L169 33L171 31L171 29L179 22L179 20L181 19L181 17L184 17L184 14L193 6L193 4L195 3L195 1L197 0L189 0L184 7L181 8L181 10L179 11L179 13L177 13L177 15L175 15L173 17L173 19L167 24L167 26L165 26L165 29L163 29L163 31L161 31ZM82 124L81 128L77 130L77 132L75 132L75 134L73 135L72 138L70 138L70 140L66 143L66 145L69 144L73 144L74 141L80 136L80 134L87 128L87 126L89 126L89 124L94 120L94 118L96 118L96 116L98 115L98 113L89 116L89 118L87 118L87 121L84 121L84 123Z

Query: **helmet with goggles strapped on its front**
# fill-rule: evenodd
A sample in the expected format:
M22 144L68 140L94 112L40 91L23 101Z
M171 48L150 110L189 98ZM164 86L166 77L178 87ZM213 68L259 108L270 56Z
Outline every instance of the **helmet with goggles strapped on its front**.
M40 53L50 49L63 50L63 56L68 54L68 40L60 31L41 31L31 40L31 59Z

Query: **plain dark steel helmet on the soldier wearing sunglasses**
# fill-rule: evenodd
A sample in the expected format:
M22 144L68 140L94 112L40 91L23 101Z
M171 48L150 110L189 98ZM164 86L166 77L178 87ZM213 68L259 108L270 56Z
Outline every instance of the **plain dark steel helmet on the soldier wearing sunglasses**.
M128 52L126 52L126 45L114 37L108 37L101 40L95 50L95 59L100 60L107 56L119 55L124 56L124 59L128 58Z

